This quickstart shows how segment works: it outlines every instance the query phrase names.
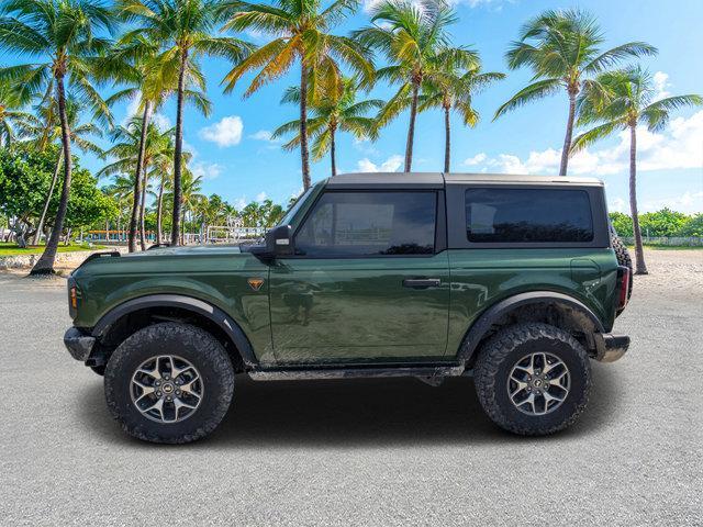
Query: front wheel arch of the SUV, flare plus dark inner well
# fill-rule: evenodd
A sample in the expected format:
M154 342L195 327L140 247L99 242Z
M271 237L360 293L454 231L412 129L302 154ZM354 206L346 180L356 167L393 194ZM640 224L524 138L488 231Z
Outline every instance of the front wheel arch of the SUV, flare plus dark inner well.
M183 294L149 294L123 302L105 313L91 334L101 344L104 355L154 319L187 322L202 327L212 333L231 356L236 354L232 358L238 359L239 368L258 363L249 339L234 318L203 300ZM237 365L234 366L236 369Z

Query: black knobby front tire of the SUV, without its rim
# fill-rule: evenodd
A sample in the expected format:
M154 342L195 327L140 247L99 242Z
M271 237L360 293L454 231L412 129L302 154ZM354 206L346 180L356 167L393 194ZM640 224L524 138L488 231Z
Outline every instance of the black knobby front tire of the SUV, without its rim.
M132 402L133 373L144 361L159 355L182 357L203 381L200 405L177 423L152 421ZM211 334L167 322L140 329L124 340L110 357L104 384L108 408L124 431L145 441L183 444L205 437L220 424L232 401L234 370L226 351Z

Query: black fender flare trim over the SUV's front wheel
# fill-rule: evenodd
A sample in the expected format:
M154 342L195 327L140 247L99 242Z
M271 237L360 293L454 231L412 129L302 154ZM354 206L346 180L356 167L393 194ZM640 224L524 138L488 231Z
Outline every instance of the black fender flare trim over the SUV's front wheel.
M249 339L234 318L203 300L182 294L149 294L127 300L105 313L94 325L91 334L100 338L123 316L149 307L179 307L211 319L230 337L245 366L253 368L258 365Z

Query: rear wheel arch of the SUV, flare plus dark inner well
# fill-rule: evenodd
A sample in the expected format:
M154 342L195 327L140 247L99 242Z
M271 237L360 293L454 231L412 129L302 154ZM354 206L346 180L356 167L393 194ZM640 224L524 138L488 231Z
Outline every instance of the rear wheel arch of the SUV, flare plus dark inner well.
M502 327L521 322L542 322L578 334L589 352L595 352L594 334L605 328L592 310L578 299L555 291L531 291L503 299L481 313L467 329L457 359L472 365L481 345Z

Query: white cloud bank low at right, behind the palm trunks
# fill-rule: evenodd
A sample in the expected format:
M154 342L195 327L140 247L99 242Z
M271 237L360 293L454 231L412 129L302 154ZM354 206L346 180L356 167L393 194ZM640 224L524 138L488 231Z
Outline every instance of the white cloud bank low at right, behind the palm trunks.
M618 143L606 148L583 149L569 160L570 175L607 176L629 168L629 132L617 135ZM480 153L465 165L503 173L558 173L561 150L533 150L526 159L513 154L489 157ZM703 111L677 117L661 133L637 127L637 170L673 170L703 167Z

